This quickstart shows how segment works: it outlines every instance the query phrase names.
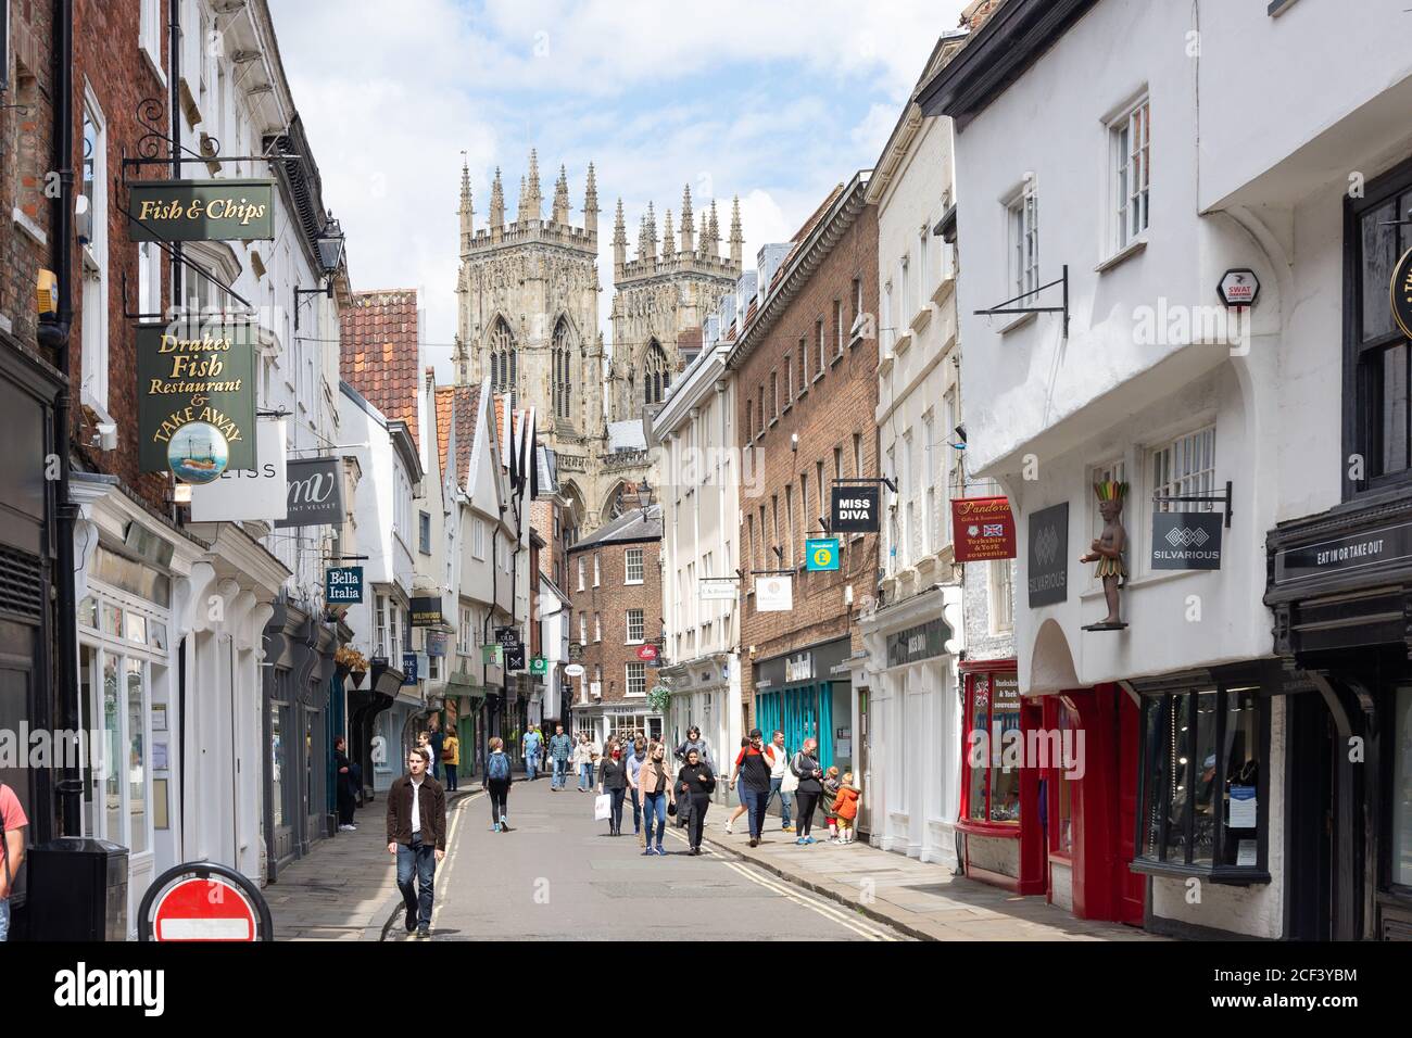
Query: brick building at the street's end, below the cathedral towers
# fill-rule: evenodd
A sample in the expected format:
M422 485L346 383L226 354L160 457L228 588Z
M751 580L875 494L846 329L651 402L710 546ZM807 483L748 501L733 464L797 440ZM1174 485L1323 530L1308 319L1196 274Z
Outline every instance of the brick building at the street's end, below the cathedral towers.
M599 744L631 730L658 739L662 713L648 703L658 668L640 651L661 651L662 510L633 508L569 548L570 640L583 647L575 679L573 732Z

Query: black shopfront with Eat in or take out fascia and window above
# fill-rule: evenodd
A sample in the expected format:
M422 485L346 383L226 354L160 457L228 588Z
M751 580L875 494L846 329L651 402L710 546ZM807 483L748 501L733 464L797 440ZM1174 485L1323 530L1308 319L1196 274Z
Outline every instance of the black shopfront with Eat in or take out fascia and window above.
M1343 500L1267 537L1286 715L1291 938L1412 939L1412 161L1344 201ZM1396 294L1394 292L1394 297Z

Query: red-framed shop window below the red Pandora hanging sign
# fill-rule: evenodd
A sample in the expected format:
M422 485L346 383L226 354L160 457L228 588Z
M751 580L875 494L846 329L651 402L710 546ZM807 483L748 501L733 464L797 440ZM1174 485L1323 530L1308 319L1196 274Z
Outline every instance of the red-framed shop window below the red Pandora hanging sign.
M1019 733L1019 681L977 674L966 705L964 816L971 822L1019 822L1019 763L1004 747Z

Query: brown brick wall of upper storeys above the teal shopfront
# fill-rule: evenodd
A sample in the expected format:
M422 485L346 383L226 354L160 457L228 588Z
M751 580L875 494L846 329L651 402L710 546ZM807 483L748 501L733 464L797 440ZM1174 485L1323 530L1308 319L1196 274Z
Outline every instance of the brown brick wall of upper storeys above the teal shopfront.
M875 593L877 587L877 535L844 535L842 541L842 566L837 572L798 572L794 579L794 610L789 613L760 613L755 609L751 569L781 569L784 565L770 549L777 544L772 534L772 507L778 500L779 538L778 545L789 558L789 537L785 534L786 507L785 487L792 487L794 499L794 566L803 566L803 535L822 535L818 507L818 462L825 470L825 511L830 499L834 472L833 452L843 451L844 476L877 476L877 339L863 339L850 346L847 328L853 321L853 281L863 284L863 311L877 314L877 209L864 206L853 225L843 233L827 257L809 278L809 282L785 308L765 338L754 347L736 370L737 384L737 428L747 428L746 408L754 401L754 419L748 424L755 429L753 446L755 460L762 465L760 493L753 493L750 480L741 487L740 551L746 576L744 612L741 613L741 695L750 703L754 719L754 668L750 661L750 647L755 648L755 660L791 652L803 645L851 634L853 651L861 651L857 613L863 597ZM834 299L843 304L844 346L843 356L836 354ZM818 321L825 323L827 342L827 366L819 377L818 364ZM799 395L799 339L809 349L808 393ZM785 387L785 356L794 367L792 400ZM777 376L779 386L781 412L770 424L770 378ZM760 432L760 390L767 395L765 426ZM798 449L791 445L791 435L798 434ZM853 436L861 436L861 472L854 465ZM808 476L809 504L801 508L801 475ZM760 531L760 508L765 510L765 524L770 532ZM751 534L750 517L754 517ZM753 552L753 554L751 554ZM844 606L844 587L853 586L853 616Z

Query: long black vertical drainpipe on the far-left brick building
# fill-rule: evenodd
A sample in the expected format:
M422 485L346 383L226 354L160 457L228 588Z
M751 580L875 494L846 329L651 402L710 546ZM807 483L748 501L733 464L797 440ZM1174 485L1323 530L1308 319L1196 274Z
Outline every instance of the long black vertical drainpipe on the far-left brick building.
M54 350L64 384L54 401L54 451L59 458L55 515L58 575L58 695L41 703L42 727L54 727L54 708L58 706L59 727L78 732L79 727L79 658L78 603L73 595L73 523L78 514L69 503L69 415L72 411L69 371L69 332L73 322L73 0L54 3L54 160L59 174L59 196L52 206L54 234L52 263L58 280L58 314L54 321L40 322L38 339ZM104 174L106 175L106 174ZM96 229L100 233L106 229ZM76 761L65 754L58 782L59 826L65 836L76 836L82 829L80 809L83 780Z

